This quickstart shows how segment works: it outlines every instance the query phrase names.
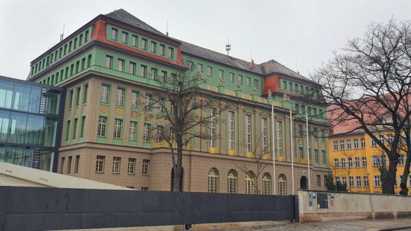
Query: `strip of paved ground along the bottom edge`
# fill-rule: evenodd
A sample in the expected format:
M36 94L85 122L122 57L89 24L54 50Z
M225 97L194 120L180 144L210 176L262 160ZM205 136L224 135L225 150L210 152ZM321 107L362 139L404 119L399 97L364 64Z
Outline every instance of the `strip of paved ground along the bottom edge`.
M398 229L402 228L402 229ZM116 230L116 231L179 231L182 226L156 226L140 228L110 228L110 229L92 229L95 230ZM327 222L310 222L310 223L290 223L284 221L264 221L264 222L244 222L244 223L216 223L195 225L191 229L197 230L219 230L219 231L253 231L253 230L290 230L290 231L351 231L351 230L411 230L411 217L401 219L358 219L351 221L327 221Z

